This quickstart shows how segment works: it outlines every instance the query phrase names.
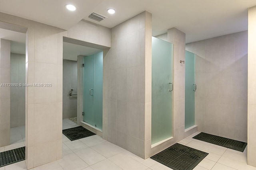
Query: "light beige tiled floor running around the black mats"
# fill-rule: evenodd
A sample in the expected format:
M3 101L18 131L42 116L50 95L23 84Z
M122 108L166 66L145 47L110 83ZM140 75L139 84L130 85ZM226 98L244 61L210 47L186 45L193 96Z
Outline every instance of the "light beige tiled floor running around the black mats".
M76 123L69 119L63 120L63 129L76 126ZM12 131L12 135L14 135L15 130ZM244 152L238 152L192 139L198 133L196 132L179 141L182 145L209 153L194 170L256 170L256 168L246 164L247 148ZM11 146L17 143L24 144L21 140L19 140L20 142L17 141L20 139L18 132L16 132L16 135L17 137L13 137L14 144ZM24 138L22 139L24 140ZM171 170L150 158L144 160L105 141L98 135L76 141L70 141L63 135L62 141L62 159L38 166L32 170ZM11 147L9 146L9 148ZM9 148L4 147L4 150ZM2 167L0 170L26 170L25 161Z

